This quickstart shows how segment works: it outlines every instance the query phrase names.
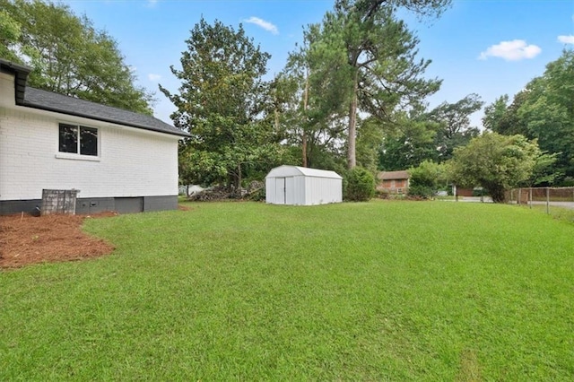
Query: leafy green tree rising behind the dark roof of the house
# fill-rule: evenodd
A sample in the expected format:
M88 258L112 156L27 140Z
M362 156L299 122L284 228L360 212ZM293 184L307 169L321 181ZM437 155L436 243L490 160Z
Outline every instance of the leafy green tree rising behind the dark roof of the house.
M3 49L31 66L30 86L152 114L152 94L135 85L116 40L86 16L39 0L0 0L0 9Z

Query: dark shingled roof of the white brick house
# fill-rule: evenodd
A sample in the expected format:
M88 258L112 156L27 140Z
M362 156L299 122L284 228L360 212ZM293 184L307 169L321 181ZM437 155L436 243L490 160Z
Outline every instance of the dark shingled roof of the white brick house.
M15 100L17 105L54 111L69 116L86 117L170 135L190 136L186 132L170 124L166 124L156 117L25 86L28 74L30 73L30 68L26 66L16 65L10 61L0 59L0 72L14 74L16 83Z

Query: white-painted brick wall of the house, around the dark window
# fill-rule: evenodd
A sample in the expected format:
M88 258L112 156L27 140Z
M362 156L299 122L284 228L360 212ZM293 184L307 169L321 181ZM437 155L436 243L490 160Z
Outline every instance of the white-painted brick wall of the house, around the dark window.
M98 161L57 158L60 122L99 129ZM78 197L178 195L178 136L8 106L4 99L0 200L39 199L42 188L75 188Z

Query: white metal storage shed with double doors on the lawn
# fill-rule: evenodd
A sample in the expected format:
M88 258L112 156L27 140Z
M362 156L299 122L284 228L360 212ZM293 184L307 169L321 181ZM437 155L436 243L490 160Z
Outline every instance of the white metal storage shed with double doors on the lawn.
M265 177L265 202L314 205L341 203L343 178L335 171L279 166Z

